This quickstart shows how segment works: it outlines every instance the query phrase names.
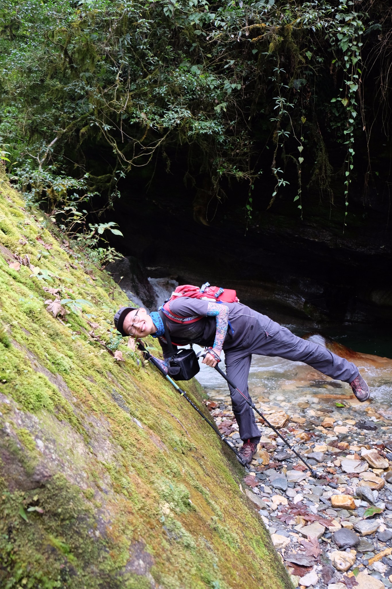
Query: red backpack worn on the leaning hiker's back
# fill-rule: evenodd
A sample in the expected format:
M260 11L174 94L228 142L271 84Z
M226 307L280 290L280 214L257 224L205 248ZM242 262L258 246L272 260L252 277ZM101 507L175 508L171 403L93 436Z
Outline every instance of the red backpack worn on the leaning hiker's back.
M192 317L179 317L174 315L170 311L170 301L177 299L180 296L188 296L191 299L202 299L210 300L214 303L238 303L239 299L235 290L222 289L219 286L210 286L209 282L203 284L201 289L198 286L192 286L192 284L183 284L177 286L176 290L172 293L170 299L165 301L165 304L161 307L166 317L169 317L176 323L195 323L202 319L202 315L194 315Z

